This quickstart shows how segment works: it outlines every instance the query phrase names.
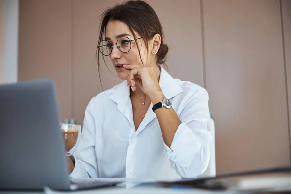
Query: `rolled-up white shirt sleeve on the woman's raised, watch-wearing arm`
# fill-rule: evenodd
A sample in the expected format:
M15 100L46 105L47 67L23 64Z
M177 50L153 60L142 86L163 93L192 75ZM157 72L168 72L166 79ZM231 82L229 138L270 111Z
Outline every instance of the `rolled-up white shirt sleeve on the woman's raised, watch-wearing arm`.
M195 178L207 169L212 141L207 129L210 120L208 93L204 88L194 94L179 118L182 123L171 146L164 146L172 169L182 178Z

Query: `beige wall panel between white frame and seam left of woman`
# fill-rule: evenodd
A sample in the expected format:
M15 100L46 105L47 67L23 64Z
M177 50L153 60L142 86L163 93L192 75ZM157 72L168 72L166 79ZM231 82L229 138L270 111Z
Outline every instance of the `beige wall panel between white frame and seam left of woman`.
M54 80L62 119L72 116L70 2L19 2L19 81Z

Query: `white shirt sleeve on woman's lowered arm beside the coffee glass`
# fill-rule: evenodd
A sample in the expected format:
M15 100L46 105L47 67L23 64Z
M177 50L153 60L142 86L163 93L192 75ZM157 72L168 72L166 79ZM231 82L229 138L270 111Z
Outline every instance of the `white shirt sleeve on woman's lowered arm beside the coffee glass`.
M86 111L81 138L74 153L75 168L69 175L72 178L98 178L97 159L95 153L95 121L92 112L93 99Z

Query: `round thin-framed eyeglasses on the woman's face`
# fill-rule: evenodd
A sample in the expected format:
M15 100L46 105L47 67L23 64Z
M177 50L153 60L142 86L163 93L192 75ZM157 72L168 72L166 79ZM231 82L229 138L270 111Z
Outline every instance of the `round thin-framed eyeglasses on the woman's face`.
M144 37L140 37L134 40L138 40ZM98 48L100 50L100 52L105 55L108 56L111 54L112 49L113 49L113 44L117 45L118 50L120 50L123 53L127 53L130 51L131 49L131 42L134 40L130 40L128 37L120 37L117 39L116 43L111 43L108 40L102 40L99 45Z

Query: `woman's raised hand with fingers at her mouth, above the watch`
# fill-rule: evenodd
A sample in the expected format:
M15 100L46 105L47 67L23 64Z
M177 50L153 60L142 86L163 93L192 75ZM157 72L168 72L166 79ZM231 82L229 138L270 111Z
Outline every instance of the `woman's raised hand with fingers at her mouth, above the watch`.
M138 85L149 97L162 92L153 67L141 65L123 65L123 67L130 70L126 84L131 86L132 91L135 91Z

